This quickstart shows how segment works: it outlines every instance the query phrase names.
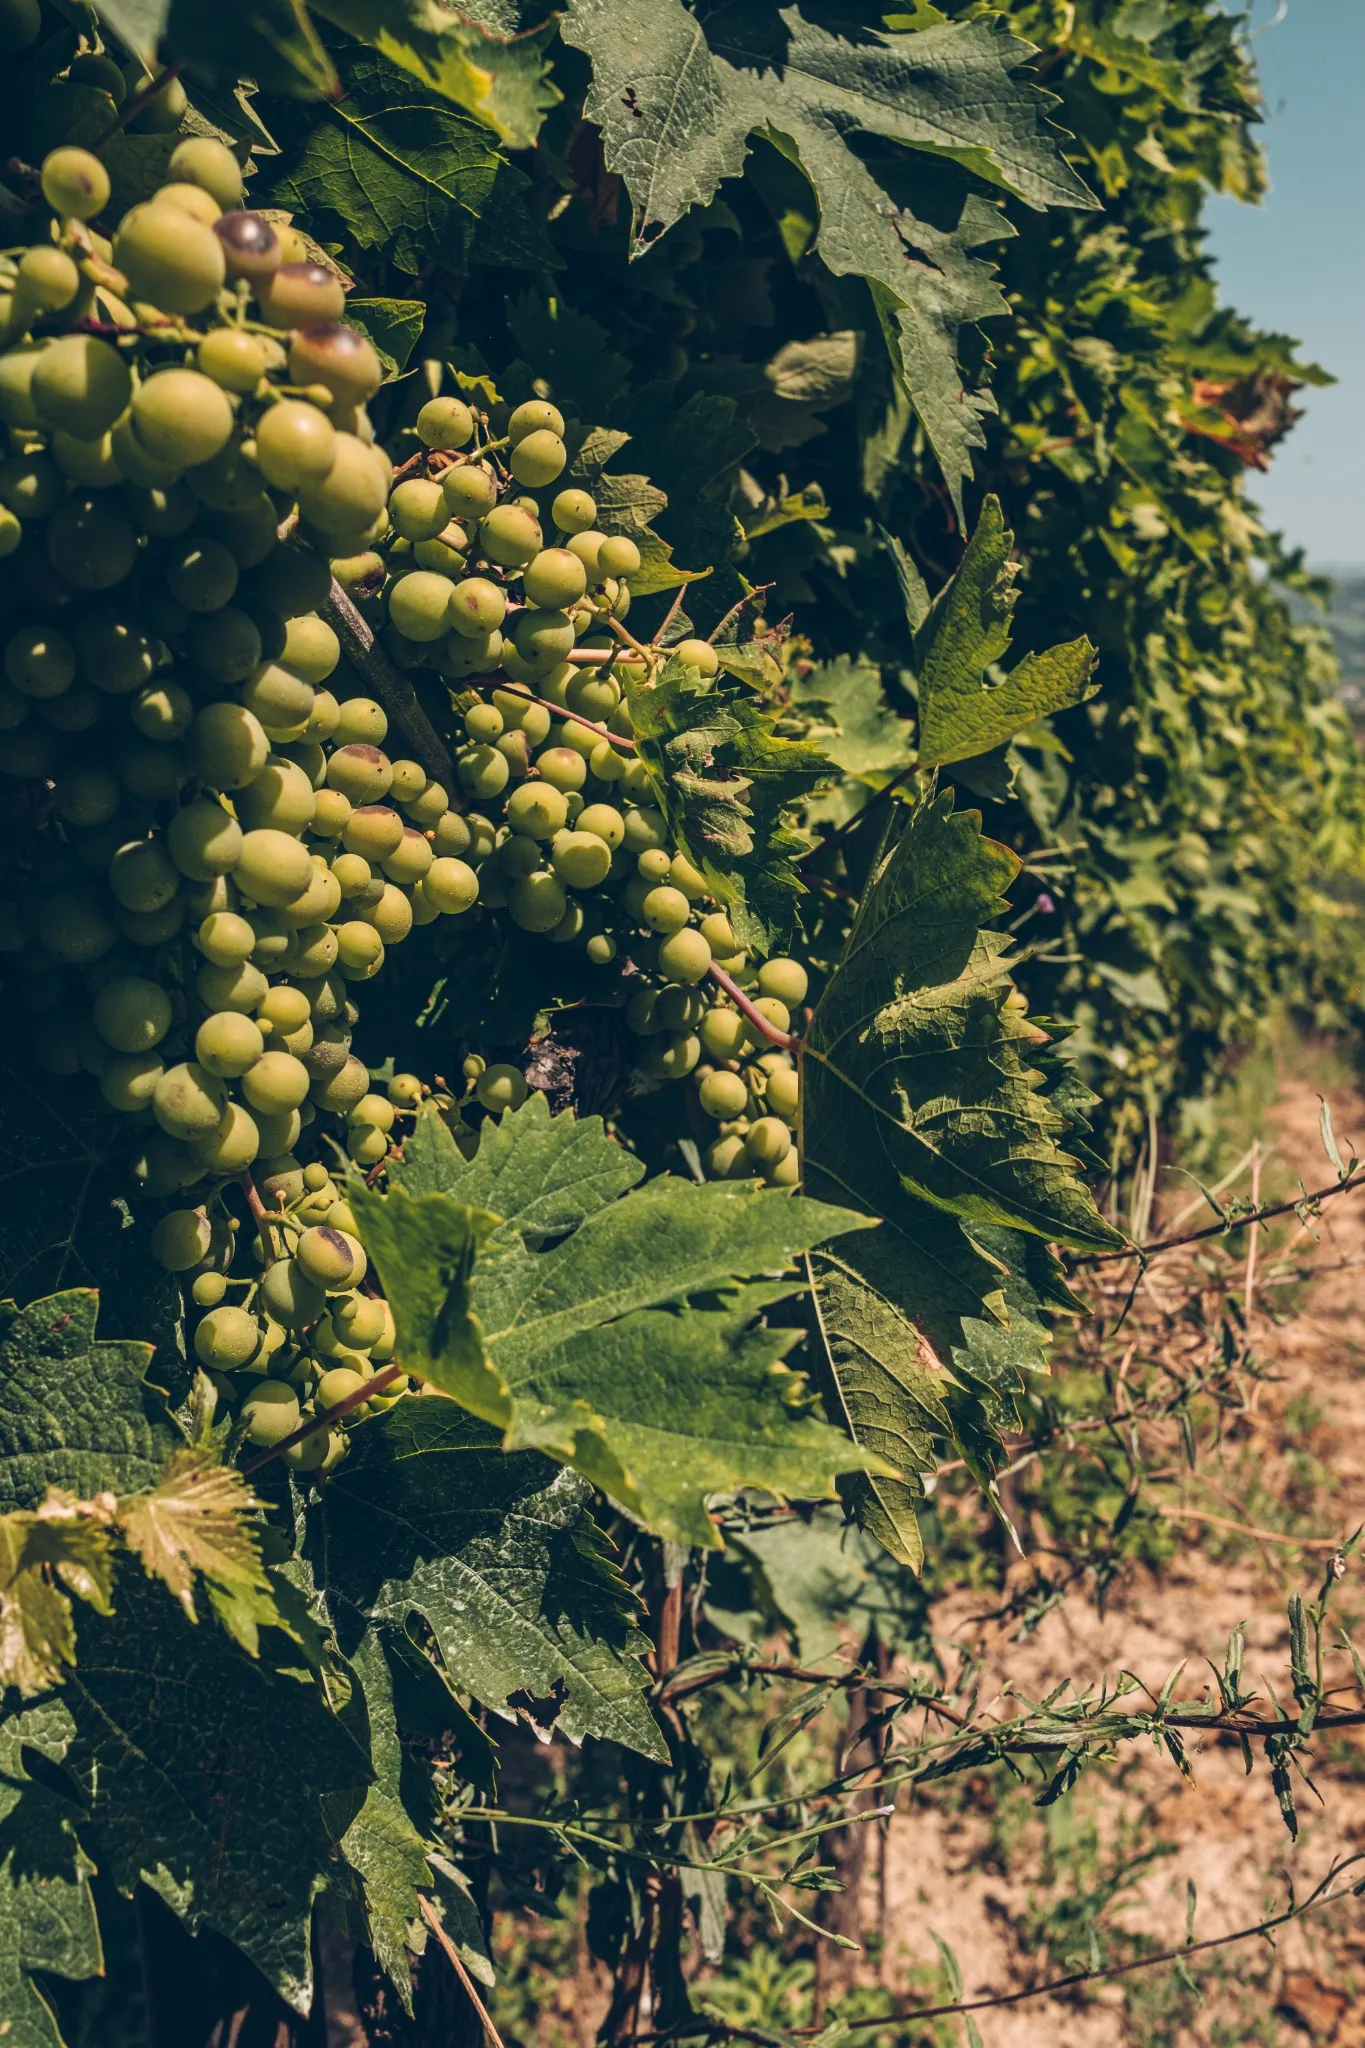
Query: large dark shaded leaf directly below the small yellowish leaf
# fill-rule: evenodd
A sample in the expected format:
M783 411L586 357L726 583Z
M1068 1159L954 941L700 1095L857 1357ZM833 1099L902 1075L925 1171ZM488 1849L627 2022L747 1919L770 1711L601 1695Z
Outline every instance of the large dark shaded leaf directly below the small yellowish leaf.
M192 1628L141 1571L117 1614L82 1612L68 1679L68 1767L86 1790L100 1864L143 1878L194 1931L217 1927L287 2003L311 1999L309 1915L370 1767L311 1683ZM323 1810L323 1802L327 1802ZM262 1827L268 1804L270 1825Z

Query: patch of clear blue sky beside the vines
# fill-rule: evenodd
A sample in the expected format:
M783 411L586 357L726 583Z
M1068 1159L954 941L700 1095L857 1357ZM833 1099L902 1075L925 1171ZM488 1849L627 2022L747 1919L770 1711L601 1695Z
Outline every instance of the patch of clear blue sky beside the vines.
M1224 299L1338 379L1252 496L1316 567L1365 567L1365 0L1254 0L1252 29L1271 193L1209 201L1209 246Z

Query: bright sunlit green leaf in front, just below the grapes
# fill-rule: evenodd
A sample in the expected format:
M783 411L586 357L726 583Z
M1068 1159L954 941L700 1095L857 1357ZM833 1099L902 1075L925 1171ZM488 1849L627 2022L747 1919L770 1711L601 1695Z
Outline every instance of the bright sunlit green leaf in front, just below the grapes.
M829 1495L837 1473L870 1460L802 1413L804 1382L782 1370L798 1331L759 1319L792 1282L745 1282L847 1229L847 1212L776 1190L669 1178L602 1200L626 1174L618 1147L596 1118L587 1122L591 1130L526 1104L467 1161L430 1118L413 1180L420 1194L405 1161L387 1196L354 1186L409 1370L499 1427L508 1450L565 1458L677 1542L718 1542L706 1513L712 1493L753 1485L780 1497ZM493 1157L481 1165L485 1143ZM563 1198L567 1178L593 1186L593 1206L579 1198L577 1221L575 1202ZM540 1251L524 1241L526 1223L491 1229L467 1296L456 1286L448 1307L446 1274L465 1219L481 1212L473 1204L508 1192L514 1217L534 1217L538 1180L561 1204L557 1229L567 1235ZM471 1327L481 1335L477 1358Z

